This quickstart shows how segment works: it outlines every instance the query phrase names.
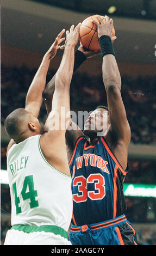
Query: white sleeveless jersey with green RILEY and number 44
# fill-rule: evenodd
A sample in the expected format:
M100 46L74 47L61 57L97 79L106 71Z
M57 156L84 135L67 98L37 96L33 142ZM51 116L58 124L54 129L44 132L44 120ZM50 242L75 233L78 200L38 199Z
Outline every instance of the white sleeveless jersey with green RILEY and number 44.
M46 161L40 135L10 148L7 169L11 225L57 225L67 231L73 206L71 176Z

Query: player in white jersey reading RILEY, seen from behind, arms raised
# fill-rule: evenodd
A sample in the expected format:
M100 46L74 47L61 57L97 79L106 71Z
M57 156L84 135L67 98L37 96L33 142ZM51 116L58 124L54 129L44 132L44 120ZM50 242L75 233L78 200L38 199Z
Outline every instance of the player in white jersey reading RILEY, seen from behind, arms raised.
M70 245L71 175L65 132L70 121L70 83L80 23L66 31L65 50L55 78L51 113L43 133L38 120L49 63L60 48L65 29L42 59L27 93L25 108L5 119L11 138L7 169L11 195L11 229L4 245ZM64 107L64 115L61 114ZM57 124L57 125L56 125ZM61 129L61 124L64 129ZM57 127L56 127L57 126Z

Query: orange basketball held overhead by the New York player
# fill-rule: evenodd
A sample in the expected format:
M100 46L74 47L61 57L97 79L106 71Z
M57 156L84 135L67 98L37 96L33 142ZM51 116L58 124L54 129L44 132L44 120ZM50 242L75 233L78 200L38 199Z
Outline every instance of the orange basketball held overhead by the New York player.
M105 17L99 15L105 23ZM90 51L98 51L100 50L99 42L98 42L98 34L97 34L97 26L91 21L91 17L93 20L99 23L96 15L90 16L86 18L79 29L79 40L83 47ZM115 29L112 29L112 37L115 36Z

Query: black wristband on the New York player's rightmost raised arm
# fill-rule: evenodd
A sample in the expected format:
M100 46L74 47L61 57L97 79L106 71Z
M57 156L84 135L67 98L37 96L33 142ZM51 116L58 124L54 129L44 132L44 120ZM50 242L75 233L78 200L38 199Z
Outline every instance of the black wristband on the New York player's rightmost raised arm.
M103 56L107 54L113 54L115 56L113 44L111 42L111 38L108 35L102 35L99 38L99 45L101 47L101 55Z

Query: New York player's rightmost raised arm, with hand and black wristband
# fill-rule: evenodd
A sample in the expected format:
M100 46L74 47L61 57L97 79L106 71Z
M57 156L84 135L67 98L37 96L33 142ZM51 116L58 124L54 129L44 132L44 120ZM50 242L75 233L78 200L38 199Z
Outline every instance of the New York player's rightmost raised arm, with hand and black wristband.
M98 38L102 51L102 72L103 82L107 93L109 117L110 117L110 133L113 135L115 154L121 159L123 166L127 162L127 149L130 143L130 127L127 120L126 110L121 97L121 76L116 63L115 53L113 50L111 35L113 28L113 20L105 16L104 23L100 16L97 16L99 24ZM123 157L121 151L126 157ZM125 161L122 159L125 159Z

